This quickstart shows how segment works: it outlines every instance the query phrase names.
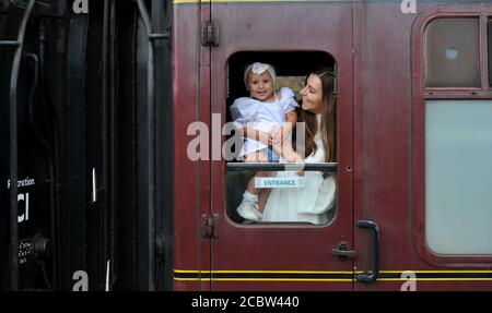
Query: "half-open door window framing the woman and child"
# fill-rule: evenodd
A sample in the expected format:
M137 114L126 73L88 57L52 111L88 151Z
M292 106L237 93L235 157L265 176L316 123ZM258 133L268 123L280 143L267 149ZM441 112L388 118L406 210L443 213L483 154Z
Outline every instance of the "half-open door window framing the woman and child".
M297 62L297 60L303 60L303 62ZM292 108L285 107L284 98L293 96L297 105L301 104L300 92L304 87L306 75L311 71L326 68L329 70L327 74L332 75L333 82L336 81L336 62L331 56L324 52L234 53L230 57L226 69L225 111L227 113L226 122L234 122L236 127L236 122L247 113L242 113L243 109L238 107L241 101L237 99L242 97L254 99L254 94L250 94L245 85L244 73L255 62L273 67L277 75L274 91L278 95L276 100L278 104L276 106L280 104L282 115L292 110ZM253 106L254 104L258 105L255 101L246 105ZM273 109L273 106L269 107L270 109ZM301 110L301 107L293 110L297 115L297 122L301 122L302 119ZM251 115L260 116L261 113L255 110L255 113ZM335 112L333 117L335 123ZM247 120L247 127L251 127L251 129L256 129L256 123L254 116ZM333 129L335 141L337 129ZM301 145L300 143L304 145L304 141L296 141L296 136L305 137L303 132L305 132L305 129L303 129L302 123L297 123L296 129L293 131L293 142L297 142L297 145ZM316 165L318 170L314 170L306 165L303 168L304 171L300 168L289 169L289 166L292 164L288 164L282 158L280 160L263 160L265 162L262 164L253 164L245 160L243 156L244 148L242 146L246 145L245 141L247 140L241 136L238 145L232 149L236 153L235 158L229 161L226 166L225 204L227 216L233 221L238 224L256 221L256 224L305 222L307 225L325 225L333 219L337 193L336 161L326 162L320 159ZM273 151L271 146L265 149ZM297 152L301 153L301 149ZM265 155L267 156L268 154ZM265 166L270 168L267 169ZM259 194L257 198L254 196L255 192L246 193L248 183L255 186L256 193ZM255 204L253 208L251 203ZM304 206L298 205L298 207L294 208L292 203L304 203ZM261 209L262 207L265 207L265 210ZM304 207L311 208L311 212L303 212ZM281 210L282 213L279 214Z

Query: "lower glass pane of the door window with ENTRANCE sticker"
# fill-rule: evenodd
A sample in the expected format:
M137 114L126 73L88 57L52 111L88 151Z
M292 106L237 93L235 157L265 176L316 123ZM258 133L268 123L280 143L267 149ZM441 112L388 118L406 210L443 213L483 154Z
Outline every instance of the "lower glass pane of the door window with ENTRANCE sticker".
M248 183L258 191L256 200L245 195ZM336 213L336 174L320 171L227 171L226 212L242 224L300 222L326 225ZM255 203L255 205L251 205Z

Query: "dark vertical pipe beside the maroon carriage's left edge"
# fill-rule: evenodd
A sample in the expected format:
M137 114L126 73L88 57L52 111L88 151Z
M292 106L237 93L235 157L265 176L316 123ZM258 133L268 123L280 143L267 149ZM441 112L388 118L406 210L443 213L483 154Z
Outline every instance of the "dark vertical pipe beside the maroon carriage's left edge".
M148 60L147 60L147 112L148 112L148 214L149 230L149 290L155 290L155 93L154 93L154 39L168 38L169 34L153 34L152 23L147 11L144 0L137 0L139 13L142 16L148 36Z

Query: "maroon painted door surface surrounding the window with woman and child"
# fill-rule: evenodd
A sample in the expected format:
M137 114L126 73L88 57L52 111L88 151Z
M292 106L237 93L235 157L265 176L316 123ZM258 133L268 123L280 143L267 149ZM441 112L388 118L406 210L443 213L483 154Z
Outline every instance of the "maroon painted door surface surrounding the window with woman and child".
M213 279L212 289L351 290L352 262L340 262L331 255L331 249L341 241L352 245L352 171L345 171L353 167L352 4L213 3L212 17L221 25L221 43L212 48L213 113L225 116L225 67L234 52L316 50L330 53L337 61L339 124L343 128L339 132L342 144L339 145L338 216L328 226L235 224L225 214L225 162L212 162L212 210L221 218L219 239L212 242L212 270L231 275L230 279ZM284 279L272 281L262 276L279 274L278 270L286 272ZM254 278L242 280L235 272L247 272ZM306 272L313 272L315 279L307 278ZM332 272L347 277L319 278ZM295 275L304 276L296 279Z

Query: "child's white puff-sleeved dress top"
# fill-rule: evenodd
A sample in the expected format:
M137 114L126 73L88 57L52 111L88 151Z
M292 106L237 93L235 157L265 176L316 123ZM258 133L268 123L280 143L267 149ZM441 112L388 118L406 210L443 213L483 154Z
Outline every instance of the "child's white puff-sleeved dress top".
M236 128L251 128L257 131L271 133L276 128L282 127L285 122L285 115L298 107L294 98L294 92L291 88L283 87L280 89L280 99L273 103L263 103L250 97L242 97L234 101L231 106L231 116ZM268 147L266 144L246 137L238 157L261 151Z

